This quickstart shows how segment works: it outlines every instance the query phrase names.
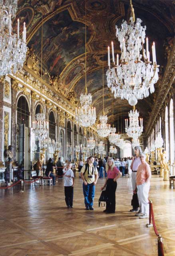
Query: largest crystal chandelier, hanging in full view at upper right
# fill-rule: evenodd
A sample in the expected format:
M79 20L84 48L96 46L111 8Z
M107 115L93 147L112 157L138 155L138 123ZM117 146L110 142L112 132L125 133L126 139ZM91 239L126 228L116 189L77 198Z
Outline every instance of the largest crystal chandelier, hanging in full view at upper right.
M130 2L130 8L133 9ZM134 14L134 10L133 10ZM146 38L146 51L143 48L145 43L146 26L141 26L142 20L135 15L130 18L129 24L123 21L121 28L116 28L116 37L120 42L121 62L117 54L115 65L114 47L111 42L112 66L110 65L110 48L108 46L108 70L107 86L114 93L114 98L128 100L131 106L137 104L137 100L143 99L154 92L154 84L159 79L158 65L156 62L155 43L152 46L153 64L150 62L148 38ZM140 53L140 51L142 51Z

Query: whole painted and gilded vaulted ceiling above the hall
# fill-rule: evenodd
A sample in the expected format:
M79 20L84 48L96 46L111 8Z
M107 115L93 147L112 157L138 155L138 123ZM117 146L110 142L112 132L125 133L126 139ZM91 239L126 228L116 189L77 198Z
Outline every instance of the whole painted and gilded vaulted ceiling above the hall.
M175 24L175 1L173 0L133 0L136 18L146 25L149 47L156 44L157 63L160 65L160 78L167 63L167 47L173 38ZM119 42L115 37L115 25L126 19L129 0L43 0L43 66L44 72L59 76L64 94L75 92L76 99L84 92L85 85L85 21L87 24L87 89L92 94L97 116L102 113L102 54L107 68L107 46L114 42L115 53L120 53ZM41 20L42 1L19 0L18 13L21 22L26 22L28 47L41 59ZM15 21L14 21L15 26ZM112 120L128 116L131 106L126 100L114 99L107 88L104 75L105 114ZM155 92L148 98L139 100L136 108L145 122L153 108L159 83Z

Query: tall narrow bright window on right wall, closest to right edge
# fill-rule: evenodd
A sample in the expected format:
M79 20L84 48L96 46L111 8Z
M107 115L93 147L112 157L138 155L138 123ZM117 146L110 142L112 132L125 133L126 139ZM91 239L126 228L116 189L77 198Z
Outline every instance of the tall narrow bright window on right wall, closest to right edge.
M174 162L174 114L173 114L173 100L170 100L169 106L169 128L170 128L170 162Z

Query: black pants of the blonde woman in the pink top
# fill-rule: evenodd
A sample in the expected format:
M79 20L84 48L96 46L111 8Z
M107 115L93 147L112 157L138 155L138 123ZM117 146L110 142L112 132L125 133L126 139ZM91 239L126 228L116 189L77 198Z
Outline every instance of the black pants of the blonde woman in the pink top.
M107 180L106 192L108 196L108 201L106 202L106 211L115 212L115 191L117 189L117 182L113 179Z

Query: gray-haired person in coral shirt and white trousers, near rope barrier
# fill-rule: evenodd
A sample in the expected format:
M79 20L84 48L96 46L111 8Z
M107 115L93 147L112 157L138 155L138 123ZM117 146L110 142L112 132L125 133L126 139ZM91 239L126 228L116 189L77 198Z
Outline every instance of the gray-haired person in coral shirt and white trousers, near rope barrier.
M144 153L141 153L139 157L141 160L141 164L139 165L137 170L136 184L140 212L135 214L135 216L139 216L140 219L145 219L149 216L148 193L150 188L151 169L149 164L147 164L147 162L145 161L146 155Z

